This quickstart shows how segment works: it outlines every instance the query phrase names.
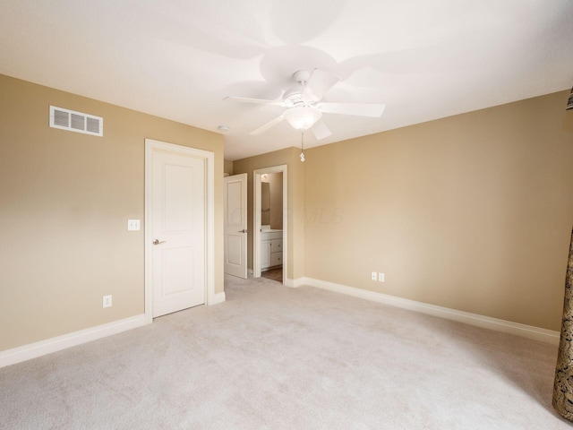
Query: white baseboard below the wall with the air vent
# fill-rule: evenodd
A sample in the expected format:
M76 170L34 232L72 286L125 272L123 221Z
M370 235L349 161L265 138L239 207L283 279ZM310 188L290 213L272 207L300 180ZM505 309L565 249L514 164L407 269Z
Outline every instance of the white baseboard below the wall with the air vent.
M56 338L40 340L22 347L6 349L0 351L0 367L15 365L16 363L30 360L30 358L36 358L65 348L75 347L82 343L90 342L91 340L105 338L146 324L145 314L140 314L113 323L102 324L81 331L74 331L73 333L57 336Z

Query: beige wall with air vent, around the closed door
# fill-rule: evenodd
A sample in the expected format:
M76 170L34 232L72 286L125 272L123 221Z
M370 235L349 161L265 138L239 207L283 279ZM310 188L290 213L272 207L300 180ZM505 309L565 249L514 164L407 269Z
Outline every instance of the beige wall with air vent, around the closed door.
M223 291L221 135L2 75L0 94L0 349L144 312L143 229L126 222L144 219L145 138L215 153ZM50 128L50 105L102 116L104 137Z

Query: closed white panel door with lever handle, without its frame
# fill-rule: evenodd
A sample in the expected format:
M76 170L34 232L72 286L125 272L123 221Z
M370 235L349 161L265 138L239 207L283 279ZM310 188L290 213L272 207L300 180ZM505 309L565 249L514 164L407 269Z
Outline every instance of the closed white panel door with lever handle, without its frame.
M153 317L205 303L204 159L154 150Z

